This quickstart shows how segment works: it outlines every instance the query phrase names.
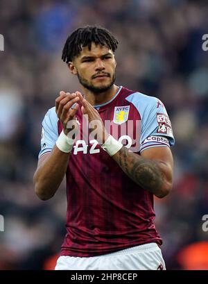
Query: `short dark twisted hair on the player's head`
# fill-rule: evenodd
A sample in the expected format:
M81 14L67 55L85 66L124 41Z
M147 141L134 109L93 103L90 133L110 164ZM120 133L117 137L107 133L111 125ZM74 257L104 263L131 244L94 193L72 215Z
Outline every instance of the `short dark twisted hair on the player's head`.
M62 60L64 62L71 62L74 57L78 56L83 47L91 50L92 42L95 44L106 45L113 52L117 49L119 42L114 35L107 31L106 28L101 26L84 26L83 28L77 28L64 44L62 51Z

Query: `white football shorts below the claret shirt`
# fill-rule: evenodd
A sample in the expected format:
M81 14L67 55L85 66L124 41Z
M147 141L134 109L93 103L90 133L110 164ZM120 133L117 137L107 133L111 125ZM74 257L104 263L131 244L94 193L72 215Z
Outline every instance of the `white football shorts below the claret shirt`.
M165 270L161 249L155 242L103 256L60 256L55 270Z

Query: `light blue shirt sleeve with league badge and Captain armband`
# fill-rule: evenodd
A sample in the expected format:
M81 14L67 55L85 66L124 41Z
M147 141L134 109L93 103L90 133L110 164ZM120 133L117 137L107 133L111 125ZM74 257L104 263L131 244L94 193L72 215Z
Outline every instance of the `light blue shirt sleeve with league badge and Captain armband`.
M128 101L137 108L141 117L140 152L150 147L171 147L175 144L171 121L162 101L145 94L135 93ZM139 96L138 96L139 94Z

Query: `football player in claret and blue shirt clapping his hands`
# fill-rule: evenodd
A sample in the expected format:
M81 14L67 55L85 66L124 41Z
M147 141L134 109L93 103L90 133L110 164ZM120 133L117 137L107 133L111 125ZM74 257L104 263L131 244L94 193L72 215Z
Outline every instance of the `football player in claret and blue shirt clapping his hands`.
M171 122L161 101L114 84L117 44L105 28L73 31L62 60L83 94L60 92L42 122L37 196L50 199L67 177L55 269L165 269L153 195L172 187Z

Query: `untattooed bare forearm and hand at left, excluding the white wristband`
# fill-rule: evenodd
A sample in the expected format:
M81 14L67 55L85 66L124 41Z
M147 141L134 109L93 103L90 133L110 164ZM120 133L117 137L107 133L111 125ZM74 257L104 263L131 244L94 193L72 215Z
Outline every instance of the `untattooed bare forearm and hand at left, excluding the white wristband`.
M55 112L62 122L63 131L66 135L69 133L67 122L73 120L78 110L78 104L76 103L78 100L76 94L66 94L65 92L60 92L60 97L55 100ZM76 106L72 110L71 106L74 103L76 103ZM33 176L37 197L42 200L48 200L53 197L67 171L70 154L70 152L64 153L64 151L60 151L55 144L50 153L45 153L40 157Z

